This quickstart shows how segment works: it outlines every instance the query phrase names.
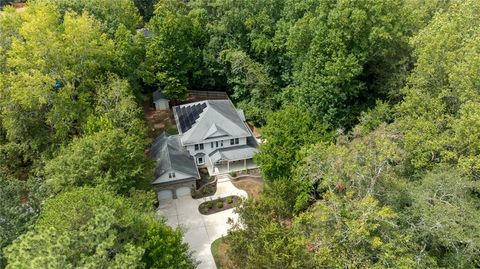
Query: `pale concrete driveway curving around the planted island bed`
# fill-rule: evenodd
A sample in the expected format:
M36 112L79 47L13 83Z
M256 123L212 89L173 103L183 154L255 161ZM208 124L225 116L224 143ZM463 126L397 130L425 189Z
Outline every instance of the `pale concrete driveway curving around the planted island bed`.
M212 199L237 195L247 197L244 190L236 188L227 176L221 176L217 182L217 191ZM210 245L215 239L227 234L230 225L228 219L236 221L238 215L228 209L212 215L202 215L198 206L210 200L210 197L193 199L190 195L178 199L161 200L157 213L164 216L168 225L184 230L183 240L190 245L194 258L200 262L199 269L216 268Z

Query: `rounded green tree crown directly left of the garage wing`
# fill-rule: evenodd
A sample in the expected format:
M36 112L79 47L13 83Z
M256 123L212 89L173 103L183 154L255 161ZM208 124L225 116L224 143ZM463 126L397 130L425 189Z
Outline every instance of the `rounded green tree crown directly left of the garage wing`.
M45 177L53 193L74 186L102 186L126 193L141 183L147 160L145 142L120 129L75 138L47 162Z

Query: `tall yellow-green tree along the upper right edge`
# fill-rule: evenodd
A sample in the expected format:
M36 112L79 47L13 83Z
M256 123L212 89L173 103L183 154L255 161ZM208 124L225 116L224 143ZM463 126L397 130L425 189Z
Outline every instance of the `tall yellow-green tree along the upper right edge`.
M480 100L479 11L477 1L453 2L413 39L418 60L396 124L414 169L471 160L478 152L462 139L471 135L468 124L478 112L472 104ZM474 163L464 166L476 173Z

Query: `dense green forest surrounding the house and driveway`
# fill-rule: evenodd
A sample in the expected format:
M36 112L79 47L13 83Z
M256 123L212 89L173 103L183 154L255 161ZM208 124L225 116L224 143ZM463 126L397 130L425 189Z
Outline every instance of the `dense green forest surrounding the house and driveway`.
M480 267L477 0L32 0L0 13L0 268L194 268L142 104L227 91L265 141L238 268Z

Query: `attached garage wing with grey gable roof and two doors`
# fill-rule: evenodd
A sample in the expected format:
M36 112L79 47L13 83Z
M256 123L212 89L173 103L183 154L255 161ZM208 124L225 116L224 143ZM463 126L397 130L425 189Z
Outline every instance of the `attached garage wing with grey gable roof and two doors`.
M153 141L150 157L156 161L152 185L159 199L177 198L177 195L190 194L190 189L195 188L200 174L178 135L159 135Z

